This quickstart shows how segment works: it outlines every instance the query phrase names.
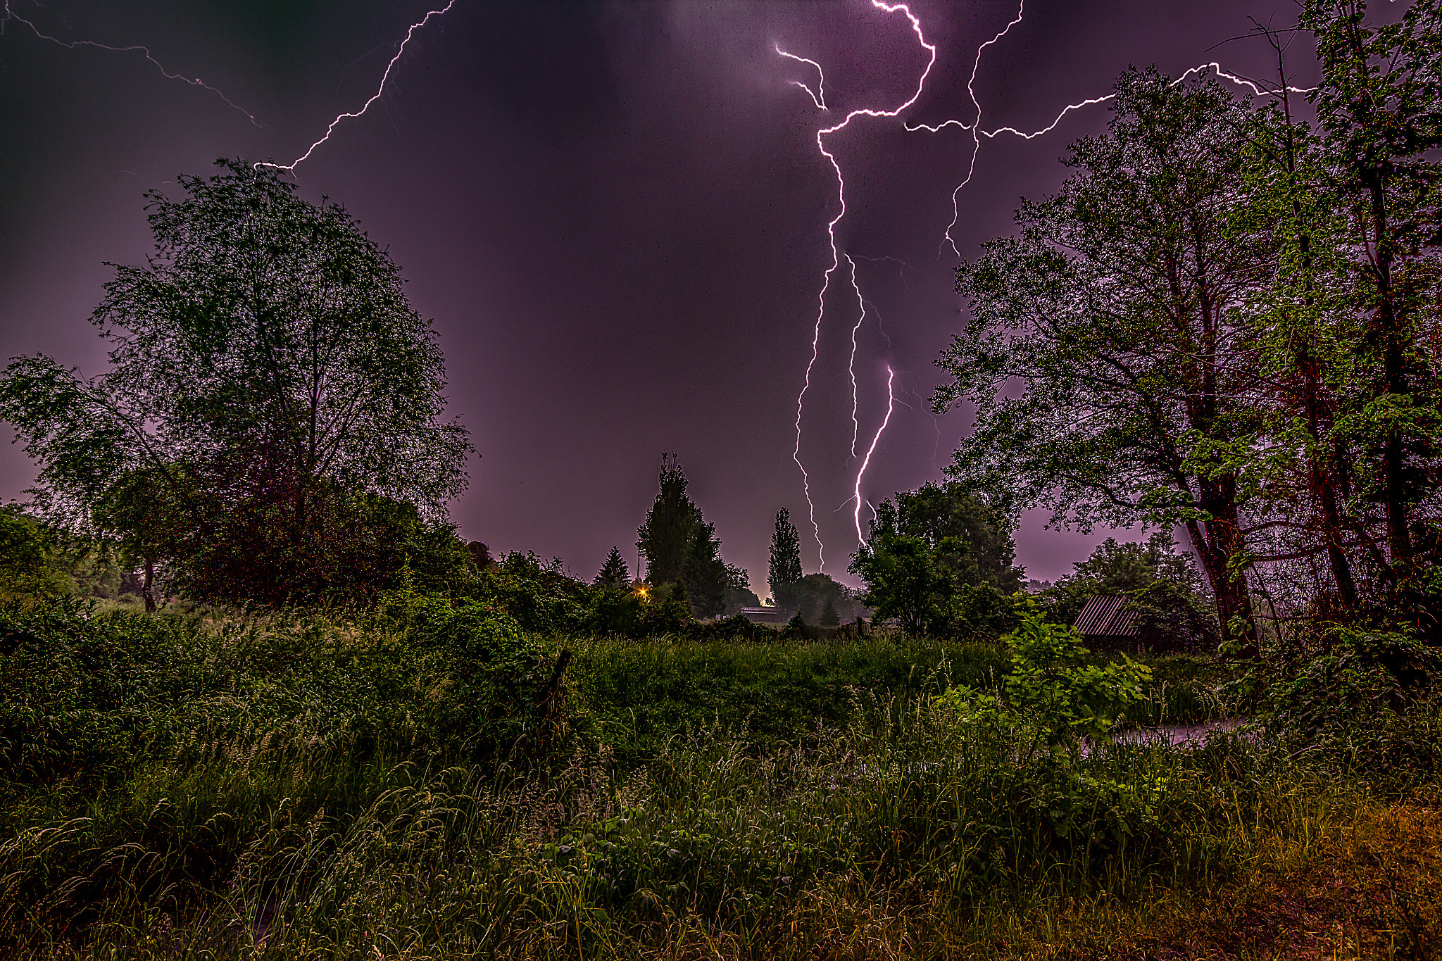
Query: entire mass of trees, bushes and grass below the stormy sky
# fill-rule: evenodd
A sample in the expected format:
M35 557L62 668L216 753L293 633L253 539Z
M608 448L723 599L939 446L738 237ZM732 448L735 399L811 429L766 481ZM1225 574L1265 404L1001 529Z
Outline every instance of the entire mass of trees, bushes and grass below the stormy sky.
M151 195L111 370L0 379L42 465L0 510L0 952L1436 957L1442 4L1361 13L1305 6L1319 133L1119 81L959 272L953 480L878 506L864 595L779 511L780 630L712 617L757 598L673 457L645 581L463 546L384 251L268 169ZM1027 596L1038 503L1201 571L1162 532ZM1136 650L1083 645L1097 594Z

